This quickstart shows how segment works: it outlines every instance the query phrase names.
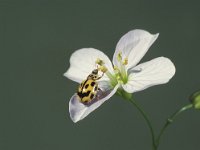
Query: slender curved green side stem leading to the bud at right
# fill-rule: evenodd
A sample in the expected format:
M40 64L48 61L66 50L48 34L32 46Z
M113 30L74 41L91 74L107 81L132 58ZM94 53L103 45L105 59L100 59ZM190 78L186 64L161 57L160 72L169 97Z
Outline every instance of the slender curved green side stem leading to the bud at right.
M156 139L156 149L158 148L159 144L160 144L160 139L161 136L164 134L166 128L174 121L174 119L183 111L188 110L190 108L192 108L193 105L192 104L188 104L184 107L182 107L180 110L176 111L174 114L172 114L166 121L165 125L163 126L163 128L160 130L160 133L158 135L158 138Z

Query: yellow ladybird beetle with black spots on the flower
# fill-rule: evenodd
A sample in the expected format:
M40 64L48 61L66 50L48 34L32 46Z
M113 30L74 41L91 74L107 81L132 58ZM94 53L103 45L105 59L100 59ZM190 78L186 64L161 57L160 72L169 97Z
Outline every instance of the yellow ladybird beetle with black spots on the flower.
M96 80L102 76L98 76L98 69L94 69L87 79L79 85L77 95L81 103L89 104L97 96L97 92L101 89L98 88Z

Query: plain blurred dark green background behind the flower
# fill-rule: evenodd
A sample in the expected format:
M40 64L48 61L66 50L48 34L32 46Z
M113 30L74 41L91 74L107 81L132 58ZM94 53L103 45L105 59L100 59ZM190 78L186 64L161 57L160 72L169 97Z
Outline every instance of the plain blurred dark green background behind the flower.
M198 0L0 0L1 150L150 150L139 112L114 96L74 124L68 101L78 84L63 76L83 47L112 58L119 38L140 28L160 33L142 62L170 58L174 78L135 93L158 133L200 89ZM160 150L197 150L200 112L189 110L163 136Z

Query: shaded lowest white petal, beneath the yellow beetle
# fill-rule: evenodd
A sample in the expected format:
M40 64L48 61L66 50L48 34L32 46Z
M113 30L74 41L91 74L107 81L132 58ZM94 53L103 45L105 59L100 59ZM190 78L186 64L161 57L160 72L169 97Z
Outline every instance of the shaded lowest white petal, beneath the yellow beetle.
M115 94L119 85L115 86L114 89L110 91L105 91L102 98L91 105L84 105L79 102L76 94L72 96L69 101L69 113L73 122L78 122L89 115L92 111L97 109L101 104L108 100L111 96Z

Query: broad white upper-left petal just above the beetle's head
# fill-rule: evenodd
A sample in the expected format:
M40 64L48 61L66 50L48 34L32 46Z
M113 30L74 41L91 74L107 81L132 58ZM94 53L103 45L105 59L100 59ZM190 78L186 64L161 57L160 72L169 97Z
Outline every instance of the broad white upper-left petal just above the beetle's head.
M109 58L101 51L94 48L83 48L75 51L70 57L70 67L64 76L80 83L96 68L97 58L105 62L105 66L112 72L112 63ZM104 75L101 80L108 80Z

